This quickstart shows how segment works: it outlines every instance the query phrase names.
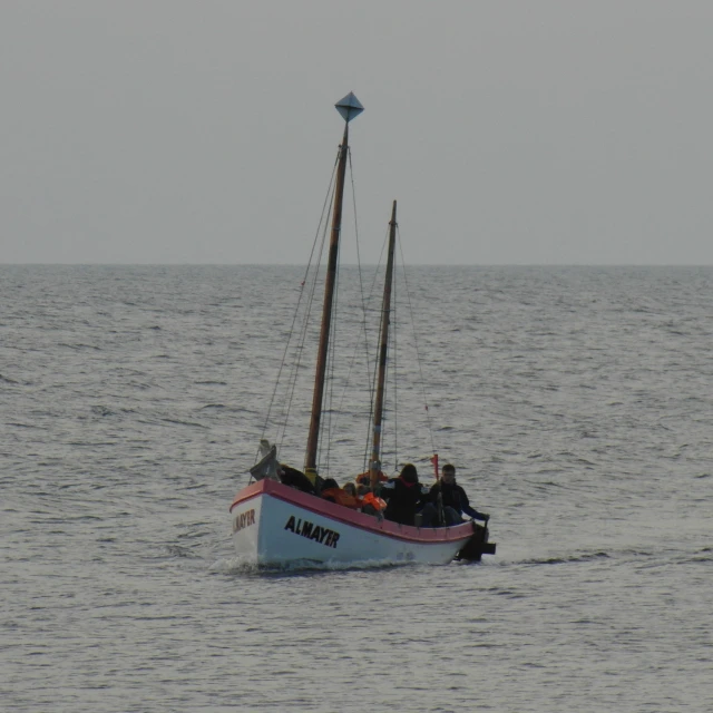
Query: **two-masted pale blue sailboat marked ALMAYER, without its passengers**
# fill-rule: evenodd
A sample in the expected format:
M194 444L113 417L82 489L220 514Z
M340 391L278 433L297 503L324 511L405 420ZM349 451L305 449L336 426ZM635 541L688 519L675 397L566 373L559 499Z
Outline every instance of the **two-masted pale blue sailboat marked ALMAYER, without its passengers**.
M401 525L383 518L378 509L372 510L374 514L368 514L323 499L309 487L314 482L318 467L338 271L342 198L349 153L349 124L363 111L363 106L351 92L339 101L335 108L344 119L344 134L336 163L329 262L304 471L290 469L292 477L287 478L284 468L277 460L276 448L266 440L261 442L262 459L251 469L251 482L235 496L229 507L235 549L243 563L267 567L447 564L455 558L479 560L484 554L495 554L496 546L488 541L487 528L475 521L466 521L450 527ZM397 203L394 201L389 223L389 247L373 404L373 436L369 465L370 482L377 492L381 466L381 426L384 409L395 234ZM437 462L436 458L438 477ZM309 480L306 488L299 487L306 480Z

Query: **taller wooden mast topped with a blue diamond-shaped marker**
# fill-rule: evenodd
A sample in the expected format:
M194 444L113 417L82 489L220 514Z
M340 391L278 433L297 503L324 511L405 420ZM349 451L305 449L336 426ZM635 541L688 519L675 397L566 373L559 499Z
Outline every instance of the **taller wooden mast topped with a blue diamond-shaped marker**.
M330 345L330 330L332 326L332 304L334 302L334 285L336 283L339 237L342 229L342 198L344 195L346 157L349 155L349 123L364 110L364 107L351 91L334 106L344 118L344 137L342 138L341 146L339 147L336 185L334 188L334 212L332 213L332 233L330 236L326 281L324 284L324 304L322 305L322 329L320 330L316 372L314 374L314 392L312 397L310 432L307 434L307 450L304 457L305 470L316 469L316 451L320 442L320 420L322 417L322 401L324 397L324 381L326 375L326 356Z

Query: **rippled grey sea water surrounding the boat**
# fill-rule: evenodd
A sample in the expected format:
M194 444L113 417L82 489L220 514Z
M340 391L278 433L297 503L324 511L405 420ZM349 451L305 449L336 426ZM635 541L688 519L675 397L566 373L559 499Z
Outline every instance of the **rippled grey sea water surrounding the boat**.
M407 388L388 448L432 434L498 553L260 574L227 508L302 277L0 266L0 707L713 710L713 268L411 270L431 431Z

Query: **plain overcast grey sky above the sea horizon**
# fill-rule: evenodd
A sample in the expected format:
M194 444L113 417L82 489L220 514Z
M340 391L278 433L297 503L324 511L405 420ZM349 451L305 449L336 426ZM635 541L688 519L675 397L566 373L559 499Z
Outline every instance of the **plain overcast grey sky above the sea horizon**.
M713 264L710 0L2 0L0 263ZM353 262L353 248L345 247Z

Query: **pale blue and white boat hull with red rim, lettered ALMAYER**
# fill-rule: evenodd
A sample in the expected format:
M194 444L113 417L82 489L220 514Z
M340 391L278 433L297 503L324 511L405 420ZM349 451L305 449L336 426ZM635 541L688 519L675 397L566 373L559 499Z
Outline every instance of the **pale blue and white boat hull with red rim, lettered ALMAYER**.
M238 558L257 566L446 564L473 537L471 522L399 525L270 479L241 490L231 515Z

